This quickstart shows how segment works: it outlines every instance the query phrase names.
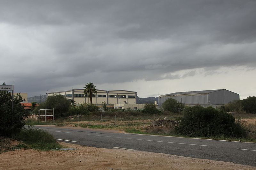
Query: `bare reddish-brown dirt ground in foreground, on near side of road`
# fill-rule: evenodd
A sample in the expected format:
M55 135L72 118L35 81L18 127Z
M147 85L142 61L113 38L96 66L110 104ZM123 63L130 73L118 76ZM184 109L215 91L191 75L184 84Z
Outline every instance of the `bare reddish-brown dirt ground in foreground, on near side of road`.
M0 169L256 169L234 163L162 153L62 143L73 151L22 149L0 154Z

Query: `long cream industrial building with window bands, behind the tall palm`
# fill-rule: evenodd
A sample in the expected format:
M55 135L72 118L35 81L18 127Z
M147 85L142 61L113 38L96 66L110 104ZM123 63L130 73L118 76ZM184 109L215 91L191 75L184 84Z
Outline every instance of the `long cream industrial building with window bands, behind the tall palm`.
M137 92L127 90L99 90L96 89L97 94L93 94L92 103L95 105L102 105L102 102L106 102L108 107L114 107L115 104L136 104ZM64 95L67 99L72 99L79 103L90 103L90 97L84 97L84 89L72 89L59 92L48 92L47 96L53 94ZM126 103L125 103L126 102ZM131 107L132 108L132 107Z

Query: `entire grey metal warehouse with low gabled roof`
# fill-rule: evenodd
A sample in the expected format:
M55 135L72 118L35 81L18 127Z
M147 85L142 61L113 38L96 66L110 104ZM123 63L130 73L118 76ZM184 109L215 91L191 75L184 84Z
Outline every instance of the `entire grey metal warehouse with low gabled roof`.
M164 101L169 98L175 99L187 106L201 105L203 107L218 107L230 101L239 100L239 94L226 89L175 92L160 95L158 98L158 106L161 107Z

